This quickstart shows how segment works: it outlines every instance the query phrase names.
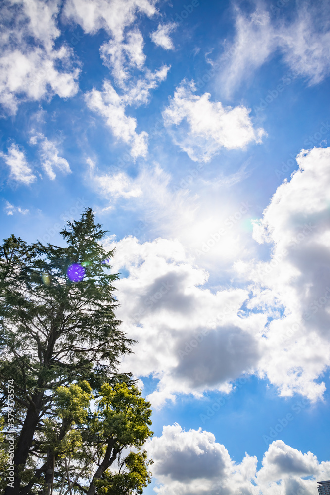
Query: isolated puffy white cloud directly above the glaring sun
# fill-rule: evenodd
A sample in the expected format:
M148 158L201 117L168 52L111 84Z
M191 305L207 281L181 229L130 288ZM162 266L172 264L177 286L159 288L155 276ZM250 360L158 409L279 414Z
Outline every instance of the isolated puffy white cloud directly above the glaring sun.
M209 161L221 148L244 148L261 142L263 129L255 130L244 106L223 107L210 101L210 93L195 95L193 82L183 80L163 112L165 126L176 126L174 142L193 161Z

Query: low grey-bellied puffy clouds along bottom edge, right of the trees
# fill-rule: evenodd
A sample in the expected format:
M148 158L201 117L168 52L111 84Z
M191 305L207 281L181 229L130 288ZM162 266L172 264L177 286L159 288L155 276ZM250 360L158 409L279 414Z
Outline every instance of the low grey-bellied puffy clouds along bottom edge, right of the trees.
M164 426L147 450L160 495L314 495L316 479L329 479L330 474L330 462L319 463L311 452L302 453L282 440L269 446L258 471L255 456L246 453L236 463L212 433L185 431L177 423Z

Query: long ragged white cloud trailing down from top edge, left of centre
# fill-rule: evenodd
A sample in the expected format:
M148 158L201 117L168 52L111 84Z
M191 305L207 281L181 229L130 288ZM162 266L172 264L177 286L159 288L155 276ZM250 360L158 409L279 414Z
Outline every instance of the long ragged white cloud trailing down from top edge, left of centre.
M120 91L105 79L102 90L93 88L85 94L85 100L91 110L105 119L115 138L131 146L134 159L146 156L148 134L136 132L137 121L126 114L126 108L148 103L150 90L166 79L170 67L164 65L155 71L146 68L141 32L136 26L126 28L138 14L152 17L157 12L156 1L68 0L63 9L64 17L80 24L85 33L95 34L105 29L112 37L100 47L100 54Z

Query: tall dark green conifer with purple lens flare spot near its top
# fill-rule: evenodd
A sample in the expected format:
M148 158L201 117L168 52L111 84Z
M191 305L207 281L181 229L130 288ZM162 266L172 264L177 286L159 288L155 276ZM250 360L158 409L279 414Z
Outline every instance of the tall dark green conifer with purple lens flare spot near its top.
M14 235L0 247L0 405L14 379L16 429L15 480L6 495L34 493L40 479L49 491L53 458L39 467L35 458L59 387L85 380L100 390L133 344L115 317L118 275L105 262L114 251L101 245L106 232L92 210L60 234L64 247L28 245Z

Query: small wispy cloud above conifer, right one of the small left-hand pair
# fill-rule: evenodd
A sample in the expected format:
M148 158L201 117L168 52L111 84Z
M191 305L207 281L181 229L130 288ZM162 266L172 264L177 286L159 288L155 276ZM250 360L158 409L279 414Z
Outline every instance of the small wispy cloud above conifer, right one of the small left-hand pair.
M39 145L41 165L51 180L54 180L56 177L54 168L57 168L63 174L71 173L67 160L61 156L58 156L58 143L55 141L49 141L48 138L40 132L30 138L30 143L33 145Z

